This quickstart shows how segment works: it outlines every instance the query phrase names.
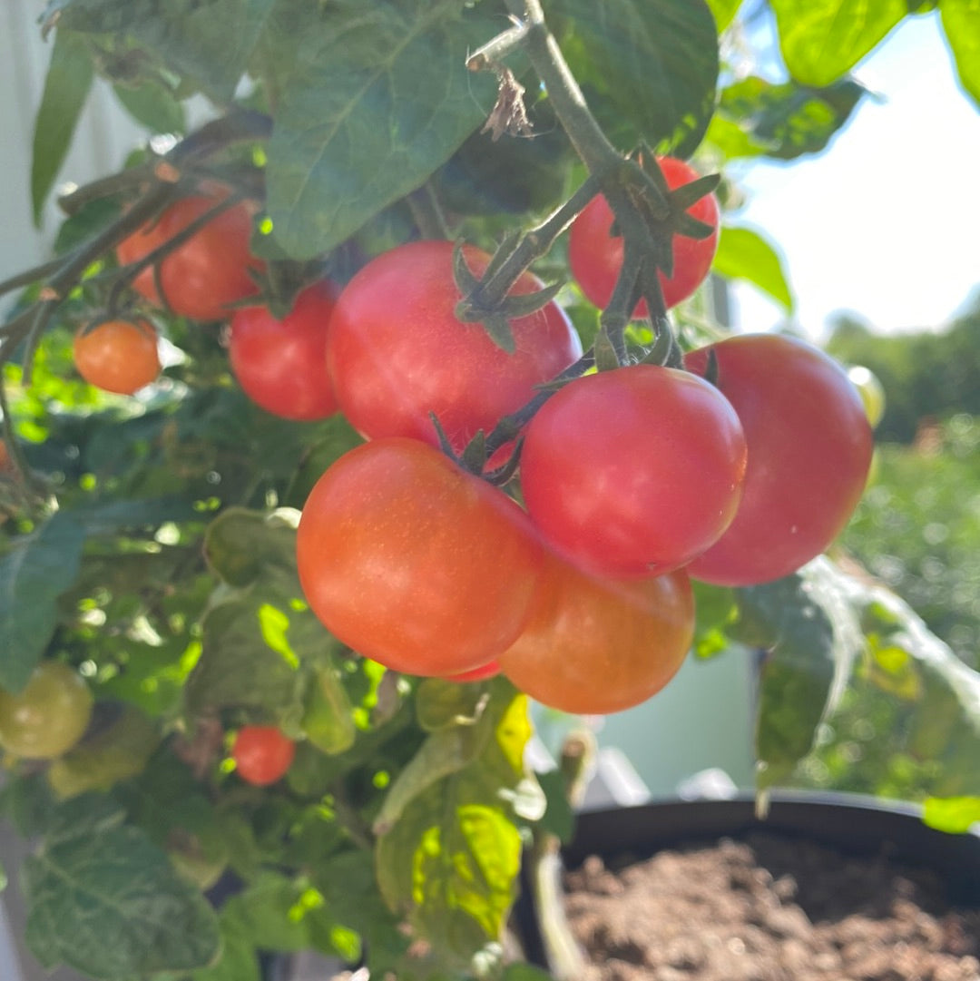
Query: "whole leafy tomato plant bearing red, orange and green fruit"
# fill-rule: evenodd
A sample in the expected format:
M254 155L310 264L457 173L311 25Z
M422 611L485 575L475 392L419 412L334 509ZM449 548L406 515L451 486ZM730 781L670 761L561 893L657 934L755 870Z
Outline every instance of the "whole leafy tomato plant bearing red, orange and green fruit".
M880 753L866 758L901 739L903 759L942 760L915 763L920 796L955 796L960 815L976 804L980 722L964 696L976 679L894 596L825 557L746 589L689 571L707 578L743 518L737 558L785 568L813 554L826 535L804 535L804 521L826 518L860 469L859 453L823 439L868 439L823 362L811 376L796 355L753 347L743 386L729 353L741 347L725 341L679 371L726 325L711 304L653 309L657 269L672 265L673 304L711 261L715 235L692 237L717 225L701 192L737 203L755 161L822 150L862 97L850 65L806 64L864 53L861 38L839 43L834 4L808 5L799 30L800 5L773 0L782 79L770 69L784 59L748 49L770 33L747 29L757 6L46 5L48 77L14 86L39 93L36 127L10 134L33 140L19 183L31 200L9 201L0 223L0 261L21 248L22 213L44 218L52 243L34 269L0 275L0 704L26 697L37 668L67 672L80 706L27 727L32 746L0 725L0 818L37 850L12 922L41 967L260 981L281 973L270 955L308 949L399 981L525 977L505 931L562 820L558 781L539 781L528 751L534 721L552 716L530 712L527 693L557 711L618 711L663 686L689 645L752 672L751 696L747 684L726 697L756 711L741 755L760 765L739 776L761 790L813 761L850 677L901 722L872 727ZM866 6L883 30L906 7ZM942 6L951 24L966 16ZM738 65L719 44L732 17ZM102 153L68 152L93 131L96 78L146 135L115 174L83 173ZM662 161L666 199L649 147L692 161ZM860 236L862 213L851 218ZM719 277L792 314L777 250L732 231ZM601 268L604 291L589 292ZM593 302L565 287L571 275ZM627 328L638 285L656 323ZM79 382L77 325L149 306L165 384L123 400ZM127 336L150 346L141 329ZM501 416L483 446L492 465L479 440L459 452ZM768 429L782 434L771 468ZM760 461L792 480L750 504ZM806 537L788 557L784 540ZM705 742L732 732L699 697L687 711ZM219 876L235 892L216 907ZM560 908L542 916L560 925Z

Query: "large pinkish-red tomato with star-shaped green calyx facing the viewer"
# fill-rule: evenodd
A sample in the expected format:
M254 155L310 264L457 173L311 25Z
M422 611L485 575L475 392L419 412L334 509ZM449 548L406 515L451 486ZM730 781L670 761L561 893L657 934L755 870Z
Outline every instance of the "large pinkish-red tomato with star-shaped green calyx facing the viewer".
M470 246L463 254L477 276L490 262ZM514 292L541 286L525 274ZM511 322L516 349L508 354L482 325L456 320L459 299L446 241L393 248L347 284L331 320L327 365L340 410L354 429L369 439L408 436L438 445L430 419L435 412L459 451L582 354L554 303Z

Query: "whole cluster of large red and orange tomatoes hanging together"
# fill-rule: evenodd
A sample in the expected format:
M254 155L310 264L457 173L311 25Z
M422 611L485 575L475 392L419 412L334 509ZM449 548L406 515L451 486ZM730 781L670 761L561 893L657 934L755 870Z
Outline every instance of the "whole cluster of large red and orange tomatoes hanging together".
M683 163L659 163L670 187L696 177ZM207 200L181 206L125 243L121 259L148 254ZM716 247L713 196L689 214L715 231L674 238L672 274L660 278L668 305L696 289ZM232 208L218 221L250 216ZM254 292L247 235L230 227L215 234L240 276L196 295L182 263L191 247L215 247L211 230L135 287L151 300L162 288L176 312L200 319ZM599 306L622 262L613 232L598 197L570 233L573 275ZM462 255L476 277L490 263L470 246ZM540 288L524 274L511 295ZM378 256L342 289L308 287L282 320L261 305L231 318L232 370L259 405L297 420L339 410L367 440L321 477L297 534L310 607L359 653L415 675L502 671L559 709L617 711L662 688L684 659L690 577L744 586L787 575L850 517L872 448L861 399L835 362L785 336L721 340L688 353L683 370L634 364L578 377L527 423L516 478L504 489L481 479L457 462L470 441L582 349L553 301L511 320L505 350L456 318L460 299L452 243L417 241ZM643 304L635 314L645 316ZM79 336L82 374L86 341L112 327ZM133 344L145 334L132 328Z

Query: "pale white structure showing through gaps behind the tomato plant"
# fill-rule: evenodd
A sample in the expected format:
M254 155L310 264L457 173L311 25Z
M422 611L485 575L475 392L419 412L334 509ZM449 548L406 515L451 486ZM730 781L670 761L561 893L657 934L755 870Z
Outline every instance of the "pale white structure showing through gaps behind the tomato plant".
M33 118L44 88L51 45L40 39L36 22L42 5L29 0L0 0L0 280L46 258L58 227L57 206L48 202L40 230L30 214L30 153ZM120 108L111 88L97 81L78 123L72 150L60 182L84 183L119 169L129 150L145 135ZM2 653L2 652L0 652ZM750 685L752 667L746 651L734 650L707 663L693 660L659 696L639 708L598 721L599 741L612 748L635 789L633 802L648 789L654 798L672 796L678 784L700 770L720 767L740 787L751 784ZM551 727L539 715L542 735ZM561 723L554 726L560 729ZM557 735L557 733L552 733ZM639 780L634 779L639 776ZM598 801L596 801L598 802ZM620 802L627 802L621 800ZM20 843L0 828L0 860L14 871L23 855ZM23 935L23 909L15 889L0 904L0 981L76 981L74 972L47 974L15 948Z

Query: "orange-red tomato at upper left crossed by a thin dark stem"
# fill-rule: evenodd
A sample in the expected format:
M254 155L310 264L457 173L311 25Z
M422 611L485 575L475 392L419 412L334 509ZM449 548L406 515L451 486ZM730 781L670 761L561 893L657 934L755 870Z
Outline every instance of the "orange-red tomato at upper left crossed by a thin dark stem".
M142 259L213 208L222 196L181 198L156 222L119 244L116 254L120 263ZM224 320L231 313L230 303L254 296L259 288L248 273L261 270L262 263L248 250L251 233L252 209L242 202L223 211L168 254L160 263L160 283L171 309L194 320ZM163 306L152 269L143 270L132 286Z

